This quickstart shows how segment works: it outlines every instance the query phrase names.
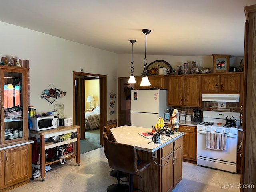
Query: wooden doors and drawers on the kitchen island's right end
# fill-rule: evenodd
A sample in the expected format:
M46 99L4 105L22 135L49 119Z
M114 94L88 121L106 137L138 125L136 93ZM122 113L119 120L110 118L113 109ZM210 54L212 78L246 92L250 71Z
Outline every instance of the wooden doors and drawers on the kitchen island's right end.
M161 166L162 172L162 192L170 192L182 180L182 138L162 148ZM171 153L168 153L171 152Z

